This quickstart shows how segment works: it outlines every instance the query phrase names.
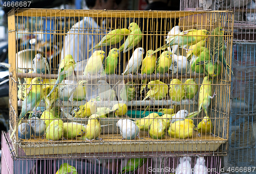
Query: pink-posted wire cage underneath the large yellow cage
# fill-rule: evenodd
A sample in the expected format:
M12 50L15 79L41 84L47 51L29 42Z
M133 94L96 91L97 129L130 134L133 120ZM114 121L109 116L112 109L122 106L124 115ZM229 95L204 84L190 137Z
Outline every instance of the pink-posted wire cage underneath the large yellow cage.
M178 165L184 167L187 171L198 171L198 166L201 166L203 173L221 173L221 157L220 156L194 156L183 154L180 157L154 157L154 158L48 158L48 159L16 159L15 151L9 139L9 134L2 133L2 173L175 173L179 171ZM180 158L186 158L189 163L180 163ZM202 162L197 159L200 158ZM137 165L136 165L137 164ZM61 167L62 166L62 167ZM204 168L203 168L204 166ZM66 168L70 170L67 171ZM61 170L62 168L62 170ZM65 171L66 170L66 171ZM123 172L125 171L126 172Z

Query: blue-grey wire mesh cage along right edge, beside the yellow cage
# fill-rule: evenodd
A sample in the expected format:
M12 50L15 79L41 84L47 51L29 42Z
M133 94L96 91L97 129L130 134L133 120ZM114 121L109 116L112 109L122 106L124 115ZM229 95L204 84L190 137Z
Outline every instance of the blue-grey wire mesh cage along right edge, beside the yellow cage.
M233 42L229 160L255 166L255 43ZM256 171L254 171L255 173Z

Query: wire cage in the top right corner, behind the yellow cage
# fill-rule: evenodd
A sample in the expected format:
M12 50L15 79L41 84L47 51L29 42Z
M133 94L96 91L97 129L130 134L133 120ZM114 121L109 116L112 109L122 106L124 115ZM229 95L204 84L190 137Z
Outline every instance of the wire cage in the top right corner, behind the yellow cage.
M234 12L233 40L254 41L255 11L254 0L181 0L180 10L231 10Z

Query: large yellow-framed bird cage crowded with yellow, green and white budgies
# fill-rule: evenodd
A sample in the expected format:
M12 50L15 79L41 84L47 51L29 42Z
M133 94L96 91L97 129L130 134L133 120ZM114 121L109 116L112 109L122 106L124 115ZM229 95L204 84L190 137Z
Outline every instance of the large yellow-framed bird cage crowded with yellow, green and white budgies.
M10 138L16 158L225 155L232 16L10 11ZM27 43L22 53L17 36Z

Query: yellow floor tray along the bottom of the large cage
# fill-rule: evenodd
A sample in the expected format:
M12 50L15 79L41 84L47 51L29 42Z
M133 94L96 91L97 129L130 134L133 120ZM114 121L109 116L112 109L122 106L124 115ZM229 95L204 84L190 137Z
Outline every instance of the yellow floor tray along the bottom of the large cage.
M129 152L214 152L222 143L227 141L218 136L205 135L201 137L194 131L193 138L178 139L165 136L161 140L152 139L141 131L135 140L123 140L121 135L100 135L102 140L60 140L22 139L18 145L27 156L59 155L59 154L97 154L97 153L129 153ZM15 146L15 144L14 144Z

